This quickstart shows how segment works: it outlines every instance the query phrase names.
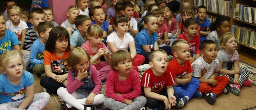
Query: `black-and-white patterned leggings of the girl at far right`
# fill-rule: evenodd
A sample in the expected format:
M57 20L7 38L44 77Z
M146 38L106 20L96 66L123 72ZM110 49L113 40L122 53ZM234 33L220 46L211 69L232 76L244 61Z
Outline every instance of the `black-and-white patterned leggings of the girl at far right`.
M234 75L219 74L218 76L227 76L229 78L229 84L234 84ZM246 69L240 70L239 78L238 78L240 80L240 84L239 84L240 87L245 83L248 76L249 76L248 70L246 70Z

